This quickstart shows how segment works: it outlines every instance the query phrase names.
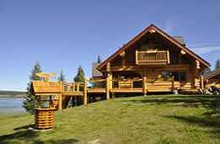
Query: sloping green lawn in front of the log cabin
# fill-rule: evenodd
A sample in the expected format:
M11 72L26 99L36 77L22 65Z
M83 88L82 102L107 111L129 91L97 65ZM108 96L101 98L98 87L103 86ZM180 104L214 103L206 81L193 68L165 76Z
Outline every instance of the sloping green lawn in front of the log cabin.
M33 116L0 117L0 143L220 143L220 97L117 98L55 113L55 128L33 132Z

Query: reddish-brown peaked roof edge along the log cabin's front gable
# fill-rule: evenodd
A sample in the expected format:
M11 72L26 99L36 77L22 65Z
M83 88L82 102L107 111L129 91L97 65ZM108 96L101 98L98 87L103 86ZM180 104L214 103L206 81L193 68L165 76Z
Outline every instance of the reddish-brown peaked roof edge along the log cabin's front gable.
M187 54L189 54L190 56L194 57L195 59L197 59L200 63L202 63L203 65L205 65L206 67L209 67L210 64L205 61L204 59L202 59L199 55L197 55L196 53L194 53L193 51L191 51L189 48L187 48L185 45L183 45L182 43L180 43L180 41L178 41L177 39L169 36L167 33L165 33L164 31L162 31L161 29L159 29L157 26L155 26L154 24L151 24L150 26L148 26L147 28L145 28L142 32L140 32L137 36L135 36L133 39L131 39L128 43L126 43L125 45L123 45L121 48L119 48L113 55L111 55L110 57L108 57L105 61L103 61L98 67L98 70L101 70L108 62L110 62L111 60L113 60L116 56L118 56L121 52L123 52L125 49L127 49L129 46L131 46L132 44L134 44L135 42L137 42L140 38L142 38L144 35L146 35L148 32L150 31L155 31L157 33L159 33L160 35L162 35L163 37L165 37L167 40L169 40L170 42L172 42L173 44L175 44L177 47L179 47L181 50L184 50Z

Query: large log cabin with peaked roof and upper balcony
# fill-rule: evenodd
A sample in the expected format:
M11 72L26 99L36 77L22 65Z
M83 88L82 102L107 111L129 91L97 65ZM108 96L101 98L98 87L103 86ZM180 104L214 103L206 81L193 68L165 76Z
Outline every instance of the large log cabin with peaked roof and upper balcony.
M200 73L210 64L151 24L119 48L97 70L110 92L173 92L203 89ZM97 79L97 77L96 77Z

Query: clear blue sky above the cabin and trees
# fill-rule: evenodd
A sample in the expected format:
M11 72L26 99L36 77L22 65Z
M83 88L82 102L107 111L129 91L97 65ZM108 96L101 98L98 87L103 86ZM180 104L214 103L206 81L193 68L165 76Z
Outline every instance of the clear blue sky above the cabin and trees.
M33 65L64 71L105 59L154 23L214 65L220 58L220 1L0 0L0 90L25 90Z

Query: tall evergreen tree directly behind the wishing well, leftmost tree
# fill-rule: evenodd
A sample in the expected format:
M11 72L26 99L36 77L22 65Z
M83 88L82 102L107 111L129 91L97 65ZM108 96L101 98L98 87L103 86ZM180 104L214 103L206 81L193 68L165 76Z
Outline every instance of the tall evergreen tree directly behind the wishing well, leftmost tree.
M31 72L30 77L29 77L30 78L30 82L27 84L27 93L26 93L26 96L24 98L25 100L23 102L23 107L30 114L34 114L34 105L35 105L35 95L33 94L33 91L31 89L31 82L33 80L40 80L40 77L35 75L36 73L39 73L39 72L42 72L42 71L41 71L40 63L37 62L34 65L34 68L33 68L32 72Z

